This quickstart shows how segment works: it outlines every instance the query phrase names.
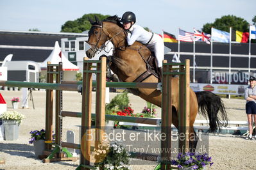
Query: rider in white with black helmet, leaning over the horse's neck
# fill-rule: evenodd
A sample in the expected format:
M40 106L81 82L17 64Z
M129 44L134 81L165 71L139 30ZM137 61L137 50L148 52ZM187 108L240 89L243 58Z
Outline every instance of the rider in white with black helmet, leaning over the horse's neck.
M135 25L136 17L133 12L125 12L120 22L123 22L123 27L128 33L128 45L132 45L135 41L141 42L149 50L155 52L160 81L162 82L162 61L164 60L164 41L162 38L157 34L146 31L141 26Z

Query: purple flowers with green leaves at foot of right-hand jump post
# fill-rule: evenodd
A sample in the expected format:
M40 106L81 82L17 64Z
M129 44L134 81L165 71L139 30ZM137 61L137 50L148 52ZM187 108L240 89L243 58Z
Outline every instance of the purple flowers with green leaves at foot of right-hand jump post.
M206 165L212 166L212 158L207 153L178 153L177 160L171 160L171 165L182 167L192 167L192 169L203 169Z

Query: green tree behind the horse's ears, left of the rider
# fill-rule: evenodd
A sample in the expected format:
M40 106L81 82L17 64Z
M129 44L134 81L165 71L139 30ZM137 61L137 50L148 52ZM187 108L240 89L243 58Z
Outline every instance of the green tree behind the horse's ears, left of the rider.
M76 20L68 20L65 22L64 25L62 25L62 30L61 32L68 32L68 33L82 33L83 31L89 30L91 27L91 24L89 22L88 17L90 19L94 19L94 15L96 15L99 20L106 19L110 15L101 15L99 13L89 13L83 15L83 17L76 19Z

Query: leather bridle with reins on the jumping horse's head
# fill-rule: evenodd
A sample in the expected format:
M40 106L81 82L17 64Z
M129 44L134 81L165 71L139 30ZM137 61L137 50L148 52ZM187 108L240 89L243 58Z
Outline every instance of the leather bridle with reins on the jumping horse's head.
M92 27L99 27L100 28L100 32L99 32L99 36L98 36L98 38L97 38L97 42L96 42L96 44L94 44L94 43L89 43L88 41L87 41L87 43L89 43L89 45L90 46L95 46L95 48L94 49L92 49L92 48L90 48L93 52L94 52L94 54L96 54L96 52L101 52L103 49L105 49L105 47L108 45L108 43L109 42L112 42L112 40L115 38L115 36L117 36L117 35L119 35L122 31L124 32L124 35L126 35L126 32L122 29L121 31L119 31L118 33L116 33L114 36L112 36L112 38L109 38L109 36L107 35L107 33L105 33L105 31L104 31L104 29L103 29L103 26L101 26L101 25L92 25ZM104 33L106 36L107 36L107 43L103 43L103 45L101 45L101 47L98 47L98 44L99 44L99 41L101 40L101 35L102 35L102 33ZM124 40L126 39L126 36L125 36L125 38L124 38ZM123 42L124 40L121 40L120 42L118 42L117 44L119 44L119 43L121 43L121 42ZM117 49L119 49L119 48L121 48L121 47L118 47L118 45L117 45Z

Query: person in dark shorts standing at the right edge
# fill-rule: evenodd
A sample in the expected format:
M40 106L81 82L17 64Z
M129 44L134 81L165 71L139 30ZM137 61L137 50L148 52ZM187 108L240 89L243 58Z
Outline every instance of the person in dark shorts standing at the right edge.
M244 91L244 99L246 100L246 114L248 118L249 136L245 139L256 139L256 135L253 136L253 119L254 123L256 121L256 78L251 76L249 79L250 86L248 86Z

